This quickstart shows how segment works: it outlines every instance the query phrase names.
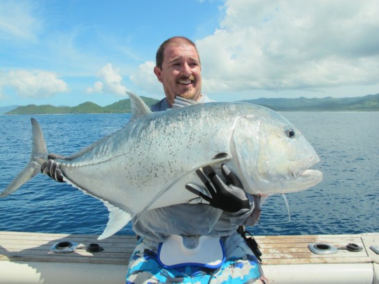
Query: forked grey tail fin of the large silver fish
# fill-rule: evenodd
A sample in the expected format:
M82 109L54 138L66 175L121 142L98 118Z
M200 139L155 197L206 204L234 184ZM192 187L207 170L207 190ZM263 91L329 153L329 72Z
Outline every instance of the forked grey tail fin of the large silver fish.
M20 186L26 183L29 179L41 172L41 166L44 161L47 161L47 148L42 134L41 127L34 118L31 118L32 123L32 154L30 161L25 168L12 180L9 186L0 193L0 197L10 195Z

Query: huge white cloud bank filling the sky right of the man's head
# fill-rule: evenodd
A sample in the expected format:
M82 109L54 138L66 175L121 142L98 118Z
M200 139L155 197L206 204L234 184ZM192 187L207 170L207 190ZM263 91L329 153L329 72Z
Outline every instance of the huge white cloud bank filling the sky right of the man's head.
M206 92L372 85L379 78L377 0L229 0L196 42Z

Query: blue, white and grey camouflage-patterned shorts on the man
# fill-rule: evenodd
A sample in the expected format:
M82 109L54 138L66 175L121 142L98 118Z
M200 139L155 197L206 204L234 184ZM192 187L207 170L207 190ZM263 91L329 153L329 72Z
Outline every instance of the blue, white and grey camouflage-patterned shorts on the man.
M166 269L157 262L157 242L140 240L130 258L127 284L267 283L261 265L238 234L224 242L226 260L218 269L186 266Z

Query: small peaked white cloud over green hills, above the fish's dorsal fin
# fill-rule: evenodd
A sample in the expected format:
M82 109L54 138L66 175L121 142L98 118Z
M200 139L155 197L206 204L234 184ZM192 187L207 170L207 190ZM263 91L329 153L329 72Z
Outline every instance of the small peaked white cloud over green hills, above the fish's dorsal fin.
M87 89L87 93L107 93L117 96L126 96L126 87L121 84L123 77L119 74L119 69L114 69L108 63L98 72L99 81L95 82L94 87Z

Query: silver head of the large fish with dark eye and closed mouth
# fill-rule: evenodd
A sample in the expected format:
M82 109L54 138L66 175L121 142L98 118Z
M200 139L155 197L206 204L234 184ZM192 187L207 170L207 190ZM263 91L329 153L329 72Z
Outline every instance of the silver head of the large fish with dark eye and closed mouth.
M283 116L264 112L239 118L233 131L233 168L247 193L291 193L318 184L322 173L310 169L319 161L312 145Z

